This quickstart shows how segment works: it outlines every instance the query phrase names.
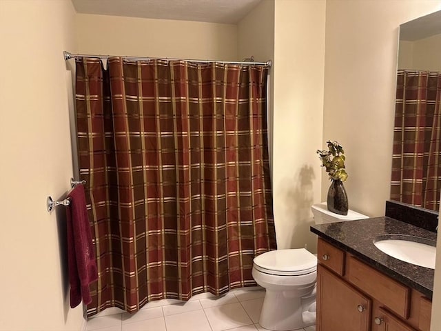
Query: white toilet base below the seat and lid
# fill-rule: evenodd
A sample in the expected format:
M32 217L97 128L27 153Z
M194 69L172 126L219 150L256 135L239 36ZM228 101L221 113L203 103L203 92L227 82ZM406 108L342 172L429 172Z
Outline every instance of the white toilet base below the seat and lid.
M287 331L301 330L315 325L315 300L310 301L307 298L305 302L301 297L292 297L289 294L289 291L274 292L267 289L260 312L261 327L274 331Z

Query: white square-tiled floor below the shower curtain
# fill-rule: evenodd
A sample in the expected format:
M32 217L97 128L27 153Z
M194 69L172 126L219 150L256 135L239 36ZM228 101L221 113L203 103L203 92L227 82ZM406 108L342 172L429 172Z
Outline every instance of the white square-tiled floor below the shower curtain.
M265 331L258 324L263 297L265 290L261 288L241 288L232 290L223 297L203 293L187 302L170 299L153 301L135 314L105 314L106 310L101 316L89 319L85 330ZM105 316L102 316L103 313ZM315 330L314 326L304 329Z

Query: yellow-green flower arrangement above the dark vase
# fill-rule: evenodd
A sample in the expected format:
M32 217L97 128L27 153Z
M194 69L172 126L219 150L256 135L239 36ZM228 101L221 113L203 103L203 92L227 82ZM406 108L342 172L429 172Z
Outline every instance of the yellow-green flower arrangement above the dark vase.
M338 141L327 141L328 150L317 150L331 181L346 181L345 151Z

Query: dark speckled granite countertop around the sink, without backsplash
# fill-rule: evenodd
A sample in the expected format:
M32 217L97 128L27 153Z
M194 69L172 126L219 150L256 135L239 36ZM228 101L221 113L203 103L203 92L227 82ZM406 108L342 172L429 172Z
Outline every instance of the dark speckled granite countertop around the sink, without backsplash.
M418 290L429 299L433 294L434 270L400 261L378 250L373 240L385 234L404 234L436 242L436 233L390 217L316 224L311 232L345 250L373 268L404 285Z

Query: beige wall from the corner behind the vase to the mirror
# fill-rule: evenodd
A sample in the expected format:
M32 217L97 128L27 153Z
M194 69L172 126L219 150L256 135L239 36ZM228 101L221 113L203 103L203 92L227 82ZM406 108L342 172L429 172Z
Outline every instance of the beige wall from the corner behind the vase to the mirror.
M351 209L384 215L390 194L398 26L440 8L439 0L327 1L323 137L345 147ZM322 197L328 187L324 177ZM441 309L440 272L438 257L433 331L441 325L435 313Z

